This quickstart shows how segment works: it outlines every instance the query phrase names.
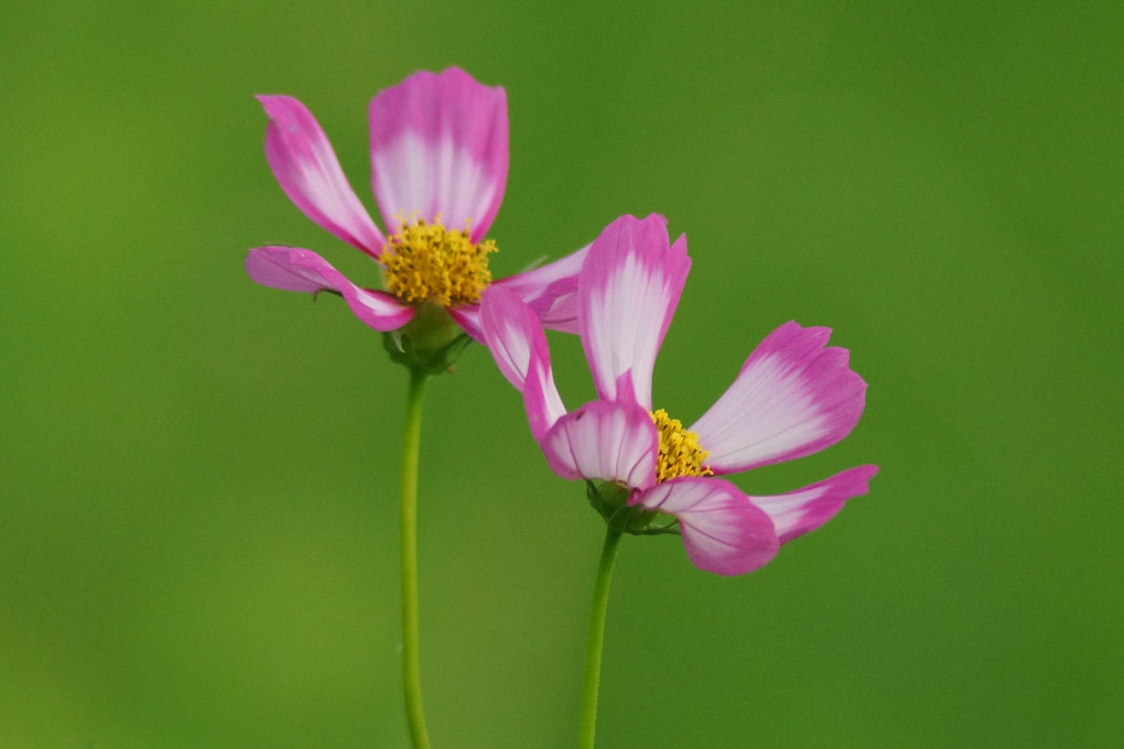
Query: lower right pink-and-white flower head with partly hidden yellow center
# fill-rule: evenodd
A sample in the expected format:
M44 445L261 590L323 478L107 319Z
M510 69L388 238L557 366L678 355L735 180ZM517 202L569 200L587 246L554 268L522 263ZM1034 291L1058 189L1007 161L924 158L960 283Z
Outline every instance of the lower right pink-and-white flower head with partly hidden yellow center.
M523 392L532 435L554 473L606 482L609 491L591 492L591 501L618 530L659 531L664 527L652 521L672 515L695 566L738 575L865 494L878 468L859 466L774 496L749 496L718 476L843 439L862 413L867 384L847 366L845 349L825 348L827 328L788 322L691 427L653 411L655 356L689 268L686 237L669 246L660 216L622 217L593 241L577 317L599 398L575 411L563 405L542 326L518 298L489 289L483 330L500 371Z

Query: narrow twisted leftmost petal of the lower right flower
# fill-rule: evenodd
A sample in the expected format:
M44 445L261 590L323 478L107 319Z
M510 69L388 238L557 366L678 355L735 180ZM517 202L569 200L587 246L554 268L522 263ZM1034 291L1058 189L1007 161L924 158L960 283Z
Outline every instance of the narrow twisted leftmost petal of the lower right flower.
M500 286L484 290L480 305L484 344L507 381L523 393L535 441L565 414L554 386L551 354L538 319L519 298Z

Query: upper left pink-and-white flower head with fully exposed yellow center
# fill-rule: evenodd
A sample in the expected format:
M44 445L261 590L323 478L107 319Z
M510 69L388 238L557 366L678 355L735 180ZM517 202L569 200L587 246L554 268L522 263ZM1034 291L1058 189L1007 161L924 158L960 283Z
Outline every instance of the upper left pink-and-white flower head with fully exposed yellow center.
M422 305L444 308L481 339L480 293L496 245L484 239L507 183L507 94L455 67L415 73L370 107L371 184L387 234L371 220L312 115L290 97L259 97L270 118L265 155L308 218L366 253L387 291L361 287L316 253L250 250L246 271L274 289L338 293L375 330L397 330ZM588 249L588 248L586 248ZM586 249L496 282L543 325L575 332L573 296Z

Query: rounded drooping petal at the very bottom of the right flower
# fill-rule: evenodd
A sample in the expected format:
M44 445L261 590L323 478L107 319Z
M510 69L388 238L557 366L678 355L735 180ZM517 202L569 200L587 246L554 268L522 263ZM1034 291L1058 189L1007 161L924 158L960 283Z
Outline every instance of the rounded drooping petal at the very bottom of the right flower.
M720 478L672 478L637 494L629 504L674 515L688 558L706 572L753 572L777 556L780 546L769 515Z

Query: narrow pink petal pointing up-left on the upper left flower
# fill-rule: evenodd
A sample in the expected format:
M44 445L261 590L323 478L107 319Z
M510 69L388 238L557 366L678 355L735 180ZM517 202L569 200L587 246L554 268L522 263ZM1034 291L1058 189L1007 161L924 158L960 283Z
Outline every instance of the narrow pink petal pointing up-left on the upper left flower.
M378 256L386 240L352 191L312 113L291 97L257 100L270 118L265 158L289 200L344 241Z

